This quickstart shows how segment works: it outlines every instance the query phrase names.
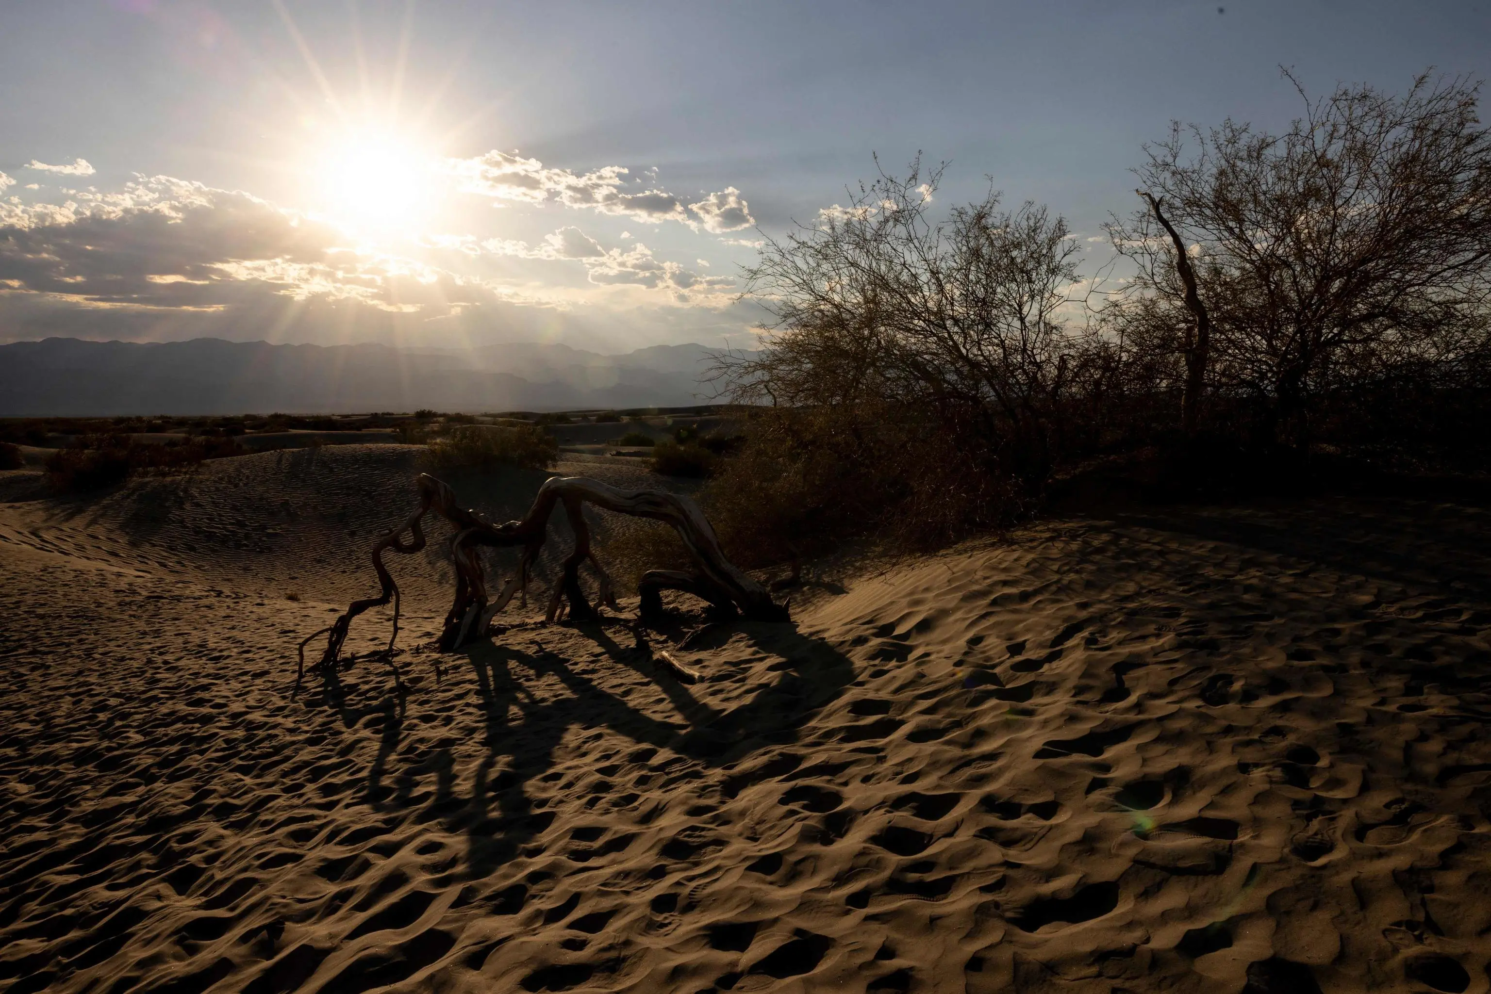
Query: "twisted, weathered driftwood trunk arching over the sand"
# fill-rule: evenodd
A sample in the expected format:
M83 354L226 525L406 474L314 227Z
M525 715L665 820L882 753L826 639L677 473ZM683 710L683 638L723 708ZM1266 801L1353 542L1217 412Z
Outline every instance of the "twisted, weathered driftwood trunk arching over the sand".
M398 638L400 593L398 584L394 583L394 577L383 563L383 553L392 550L410 556L423 550L425 532L420 523L429 513L446 519L456 529L450 539L456 593L450 611L446 612L440 635L440 647L446 650L459 648L468 639L486 633L488 624L511 602L513 596L522 593L526 602L529 569L549 538L549 519L558 504L564 505L574 532L574 550L562 563L559 581L549 599L547 621L555 621L565 608L568 608L570 618L576 621L598 617L580 589L580 566L586 560L599 580L598 598L601 604L616 610L616 589L611 577L595 559L595 551L590 548L590 528L584 522L587 502L617 514L665 522L672 526L684 548L689 550L693 569L653 569L643 575L638 592L641 593L644 618L661 612L661 593L663 590L683 590L710 602L720 612L734 615L738 611L747 620L756 621L787 620L787 608L775 604L765 587L725 557L710 520L699 510L699 505L686 496L662 490L617 490L587 477L555 477L538 489L538 496L534 498L532 507L522 520L494 525L485 516L459 507L455 492L429 474L419 474L416 487L419 505L404 519L403 525L385 534L373 545L373 569L379 578L379 596L353 601L331 627L306 639L309 642L318 635L327 633L327 648L321 656L319 666L335 666L353 618L370 608L389 602L394 604L394 632L385 654L392 654L394 639ZM480 559L482 547L522 547L523 550L517 560L517 569L495 599L488 596L486 575ZM306 642L301 642L303 653ZM678 666L678 669L684 668ZM304 654L301 656L301 671L304 671ZM684 669L684 672L689 671Z

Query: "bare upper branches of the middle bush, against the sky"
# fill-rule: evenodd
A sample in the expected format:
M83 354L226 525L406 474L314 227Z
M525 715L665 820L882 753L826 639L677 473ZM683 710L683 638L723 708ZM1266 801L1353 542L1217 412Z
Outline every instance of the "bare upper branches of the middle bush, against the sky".
M994 191L933 221L941 174L920 162L881 174L848 207L768 240L747 276L772 334L722 373L743 401L930 419L978 440L969 459L1041 480L1069 386L1062 308L1078 249L1062 218L1002 210Z

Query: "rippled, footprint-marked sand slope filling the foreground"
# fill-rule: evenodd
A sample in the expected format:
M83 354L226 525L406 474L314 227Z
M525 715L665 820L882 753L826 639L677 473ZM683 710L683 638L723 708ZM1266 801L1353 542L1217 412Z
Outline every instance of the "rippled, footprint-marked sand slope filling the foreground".
M1488 990L1484 510L1042 525L692 687L517 612L297 693L407 459L0 505L0 990Z

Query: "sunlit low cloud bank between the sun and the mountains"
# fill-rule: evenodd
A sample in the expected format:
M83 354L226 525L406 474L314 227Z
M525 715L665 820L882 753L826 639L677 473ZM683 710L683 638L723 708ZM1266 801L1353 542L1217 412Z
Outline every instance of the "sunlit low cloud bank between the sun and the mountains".
M13 185L0 174L0 189ZM731 306L731 280L658 259L644 244L605 249L573 225L534 246L470 235L422 244L456 249L462 255L447 261L479 265L355 249L332 225L168 176L140 176L113 192L72 191L64 203L0 198L0 340L502 340L517 328L553 326L537 314L556 310L625 307L635 311L628 320L661 326L643 311ZM584 280L504 273L502 256L581 267ZM617 297L625 292L632 298ZM699 322L713 329L720 319L701 313Z

